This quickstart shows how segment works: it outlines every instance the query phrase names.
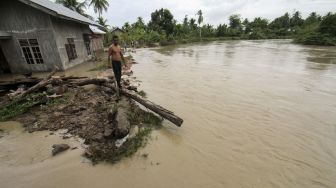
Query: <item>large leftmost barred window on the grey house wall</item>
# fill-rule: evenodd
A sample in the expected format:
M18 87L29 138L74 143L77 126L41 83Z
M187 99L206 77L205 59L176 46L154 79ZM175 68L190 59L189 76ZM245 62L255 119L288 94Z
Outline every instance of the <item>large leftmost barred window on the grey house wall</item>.
M19 39L27 64L43 64L43 58L37 39Z

